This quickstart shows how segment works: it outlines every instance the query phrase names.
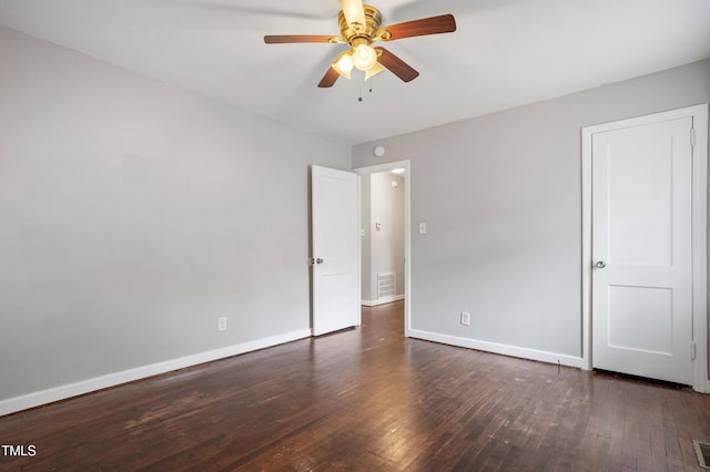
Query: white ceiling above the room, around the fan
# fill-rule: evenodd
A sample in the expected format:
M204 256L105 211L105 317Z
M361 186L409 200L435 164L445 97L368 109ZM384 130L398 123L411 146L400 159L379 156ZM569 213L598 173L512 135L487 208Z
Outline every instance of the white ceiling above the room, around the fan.
M453 13L458 29L383 44L420 75L384 72L369 93L316 86L342 44L263 43L337 35L337 0L0 0L0 24L348 144L710 57L710 0L372 3L383 24Z

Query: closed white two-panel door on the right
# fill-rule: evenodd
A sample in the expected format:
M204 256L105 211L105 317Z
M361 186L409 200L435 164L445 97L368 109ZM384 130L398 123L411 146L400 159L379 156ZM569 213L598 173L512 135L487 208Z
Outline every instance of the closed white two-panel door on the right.
M692 119L595 133L592 363L693 382Z

